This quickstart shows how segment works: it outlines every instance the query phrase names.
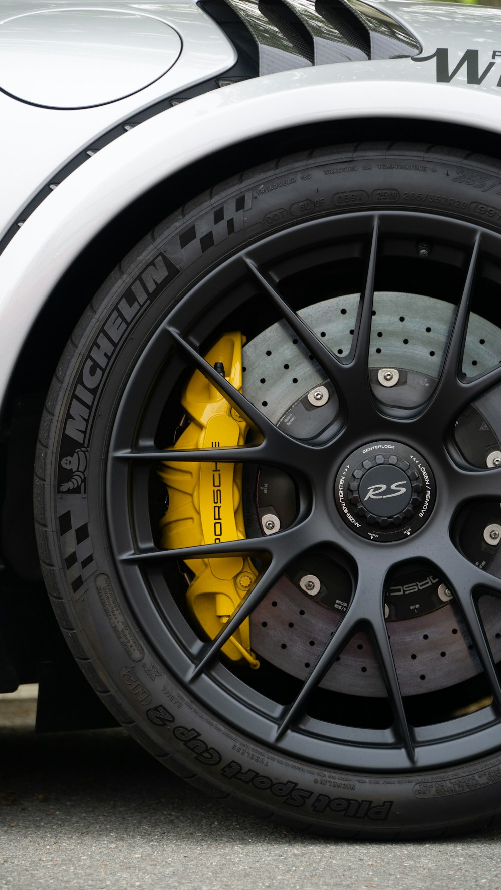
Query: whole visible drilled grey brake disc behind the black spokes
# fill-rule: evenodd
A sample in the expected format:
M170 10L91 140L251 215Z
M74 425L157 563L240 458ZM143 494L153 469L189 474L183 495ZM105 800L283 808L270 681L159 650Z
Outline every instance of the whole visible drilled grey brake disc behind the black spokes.
M350 352L359 301L360 295L356 294L337 296L308 306L299 314L342 359ZM379 385L378 396L388 401L390 391L385 392L378 384L376 369L396 369L400 384L407 384L407 395L403 398L414 399L412 403L417 404L416 399L428 397L440 376L455 307L432 297L400 293L376 293L374 307L369 350L371 383L373 387ZM463 360L465 375L476 376L493 368L500 356L501 331L472 313ZM302 438L315 435L335 416L337 402L331 384L303 344L298 343L287 322L281 320L271 325L246 344L243 361L246 398L274 423L286 425L292 434ZM322 386L327 390L327 398L324 393L316 408L308 395ZM423 386L424 396L419 394L419 386ZM396 387L392 395L395 392L398 394ZM401 386L400 392L403 392ZM497 392L486 393L477 406L465 411L465 418L457 425L458 444L465 457L476 465L485 466L489 449L499 448L500 403ZM259 503L257 507L259 511ZM280 509L279 505L275 508ZM290 512L290 505L284 509ZM486 549L489 560L495 559L492 547L486 545L484 552ZM484 563L488 562L487 557ZM299 575L317 578L317 572L312 563L303 565ZM427 578L424 570L416 570L414 576L392 579L392 587L385 596L387 627L404 695L443 689L481 673L480 661L457 604L453 597L447 600L449 594L443 602L445 585L440 578L431 581L429 578L432 576ZM399 580L404 583L399 585ZM430 589L424 594L426 584ZM336 597L332 578L330 591L322 578L319 585L319 591L309 595L297 578L281 578L250 620L251 644L256 654L301 679L308 675L334 632L341 611L346 608L344 594L341 600ZM325 596L321 595L322 589L326 591ZM397 596L401 596L399 602L404 603L398 609L394 605ZM428 597L425 611L424 596ZM344 603L341 607L340 602ZM493 597L483 597L481 613L493 655L499 660L499 604ZM320 685L337 692L384 696L383 680L367 635L359 633L352 637Z

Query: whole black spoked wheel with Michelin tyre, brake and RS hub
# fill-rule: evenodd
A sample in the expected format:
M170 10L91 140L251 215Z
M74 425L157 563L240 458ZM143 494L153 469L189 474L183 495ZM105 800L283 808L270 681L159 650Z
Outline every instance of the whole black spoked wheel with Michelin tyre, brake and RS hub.
M409 145L242 174L62 357L61 627L142 744L253 813L424 837L501 809L499 182Z

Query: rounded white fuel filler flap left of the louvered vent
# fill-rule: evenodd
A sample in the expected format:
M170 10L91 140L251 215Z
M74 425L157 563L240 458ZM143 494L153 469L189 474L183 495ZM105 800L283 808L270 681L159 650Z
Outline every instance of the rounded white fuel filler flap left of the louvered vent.
M141 12L71 6L25 12L1 24L0 84L31 105L91 108L153 84L181 51L174 28Z

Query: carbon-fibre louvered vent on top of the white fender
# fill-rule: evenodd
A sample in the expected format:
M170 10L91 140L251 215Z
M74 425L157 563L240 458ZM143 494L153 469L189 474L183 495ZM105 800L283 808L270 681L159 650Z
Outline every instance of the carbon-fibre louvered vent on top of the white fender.
M416 38L399 22L363 0L222 0L203 5L237 48L235 19L240 28L245 26L257 48L260 75L421 52ZM231 13L235 19L229 22ZM238 39L241 43L241 33Z

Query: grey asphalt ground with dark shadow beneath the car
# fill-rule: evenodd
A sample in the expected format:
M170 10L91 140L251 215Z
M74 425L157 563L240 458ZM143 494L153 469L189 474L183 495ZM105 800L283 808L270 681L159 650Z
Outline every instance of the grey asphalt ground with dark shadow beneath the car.
M501 888L501 829L415 844L298 835L204 797L121 729L36 735L21 692L0 696L2 890Z

